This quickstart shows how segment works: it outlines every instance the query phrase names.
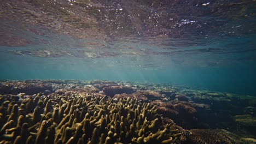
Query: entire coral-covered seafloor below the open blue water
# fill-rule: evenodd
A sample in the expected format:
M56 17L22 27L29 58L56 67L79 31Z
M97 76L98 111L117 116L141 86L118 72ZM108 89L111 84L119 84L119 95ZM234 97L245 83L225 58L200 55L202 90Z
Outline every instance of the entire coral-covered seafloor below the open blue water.
M163 83L1 80L0 143L256 143L256 97Z

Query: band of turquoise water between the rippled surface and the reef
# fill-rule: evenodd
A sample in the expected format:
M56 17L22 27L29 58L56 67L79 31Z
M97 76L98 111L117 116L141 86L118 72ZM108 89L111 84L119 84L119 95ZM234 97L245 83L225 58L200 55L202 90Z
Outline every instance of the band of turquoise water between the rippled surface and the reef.
M173 64L163 69L108 65L110 62L102 62L100 65L90 63L94 61L84 62L80 58L41 58L4 54L1 55L0 79L101 79L177 83L212 91L256 95L255 62L219 67Z

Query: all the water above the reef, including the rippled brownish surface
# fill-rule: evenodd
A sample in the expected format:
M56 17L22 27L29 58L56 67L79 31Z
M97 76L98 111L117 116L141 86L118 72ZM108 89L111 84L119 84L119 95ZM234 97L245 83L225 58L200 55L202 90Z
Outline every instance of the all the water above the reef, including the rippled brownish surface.
M256 95L255 1L1 1L0 79Z

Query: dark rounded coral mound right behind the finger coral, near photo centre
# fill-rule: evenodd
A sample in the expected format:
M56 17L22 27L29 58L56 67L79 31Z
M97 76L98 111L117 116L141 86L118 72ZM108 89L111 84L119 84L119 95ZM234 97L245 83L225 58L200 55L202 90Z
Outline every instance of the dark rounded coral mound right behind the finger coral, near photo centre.
M110 86L110 87L104 87L102 89L104 94L109 95L110 97L113 97L115 94L132 94L135 92L135 90L132 87L129 86Z

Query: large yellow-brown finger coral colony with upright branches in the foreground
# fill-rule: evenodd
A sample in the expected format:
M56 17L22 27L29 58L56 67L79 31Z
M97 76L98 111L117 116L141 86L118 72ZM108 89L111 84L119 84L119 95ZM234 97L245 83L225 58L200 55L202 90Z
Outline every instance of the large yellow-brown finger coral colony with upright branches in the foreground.
M5 124L1 125L0 143L174 143L182 135L162 122L156 106L137 99L10 97L1 95Z

